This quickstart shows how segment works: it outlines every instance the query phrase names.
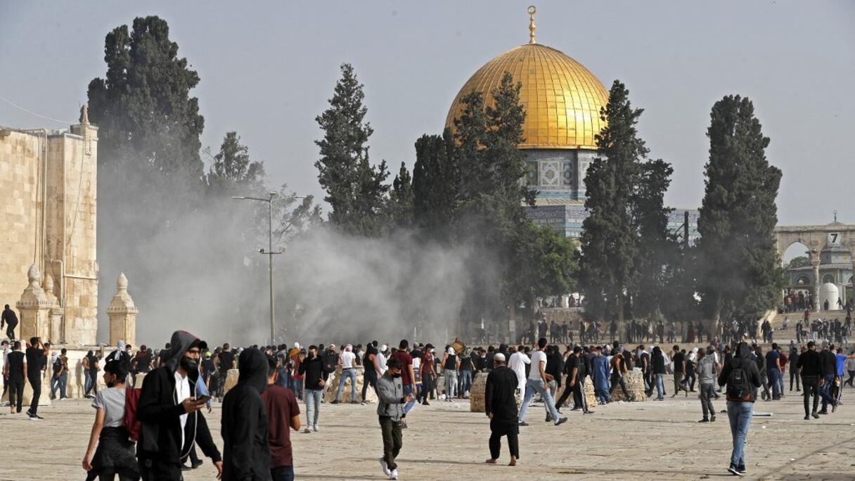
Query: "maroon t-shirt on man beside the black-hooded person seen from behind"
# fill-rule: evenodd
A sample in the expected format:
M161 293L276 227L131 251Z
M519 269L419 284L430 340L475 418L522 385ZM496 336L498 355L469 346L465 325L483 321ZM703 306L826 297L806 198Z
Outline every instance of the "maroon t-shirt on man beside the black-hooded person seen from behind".
M268 413L270 467L294 466L291 449L291 419L300 415L297 397L291 389L268 384L262 392L264 410Z

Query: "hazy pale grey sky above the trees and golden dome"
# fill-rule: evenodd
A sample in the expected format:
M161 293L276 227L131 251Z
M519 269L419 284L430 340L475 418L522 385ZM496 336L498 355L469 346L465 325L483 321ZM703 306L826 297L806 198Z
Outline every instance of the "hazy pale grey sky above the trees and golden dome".
M622 80L645 109L640 133L673 163L667 201L704 193L711 105L752 98L769 161L784 172L781 224L855 222L855 3L537 2L537 39L584 64L608 88ZM528 42L528 3L0 2L0 96L75 121L103 76L103 40L135 16L160 15L198 71L192 94L203 145L237 130L270 179L321 195L315 116L339 64L365 84L375 162L412 165L413 144L438 134L458 89L482 64ZM63 128L0 100L0 124ZM390 179L391 181L391 179Z

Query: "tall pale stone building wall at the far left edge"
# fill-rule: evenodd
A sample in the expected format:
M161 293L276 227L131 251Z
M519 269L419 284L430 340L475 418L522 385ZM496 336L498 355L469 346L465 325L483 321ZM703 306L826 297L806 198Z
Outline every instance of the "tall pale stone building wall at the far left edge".
M60 338L89 345L97 334L97 128L0 130L0 306L14 306L35 264L64 304Z

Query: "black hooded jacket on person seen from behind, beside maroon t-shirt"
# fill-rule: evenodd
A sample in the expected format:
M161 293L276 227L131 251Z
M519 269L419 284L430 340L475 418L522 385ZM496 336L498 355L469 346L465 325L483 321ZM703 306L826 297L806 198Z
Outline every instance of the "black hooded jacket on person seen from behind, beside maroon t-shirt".
M238 383L222 401L222 478L268 481L268 418L261 396L267 388L268 360L249 348L240 353L238 366Z

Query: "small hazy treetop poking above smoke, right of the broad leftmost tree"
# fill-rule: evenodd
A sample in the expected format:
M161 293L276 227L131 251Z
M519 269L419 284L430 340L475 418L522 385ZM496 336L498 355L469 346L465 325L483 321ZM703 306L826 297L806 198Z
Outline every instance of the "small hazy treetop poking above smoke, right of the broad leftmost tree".
M206 152L209 150L206 149ZM250 149L240 143L237 132L227 132L220 151L212 156L214 163L208 170L208 190L215 194L230 194L236 189L261 192L264 181L264 164L250 159Z

